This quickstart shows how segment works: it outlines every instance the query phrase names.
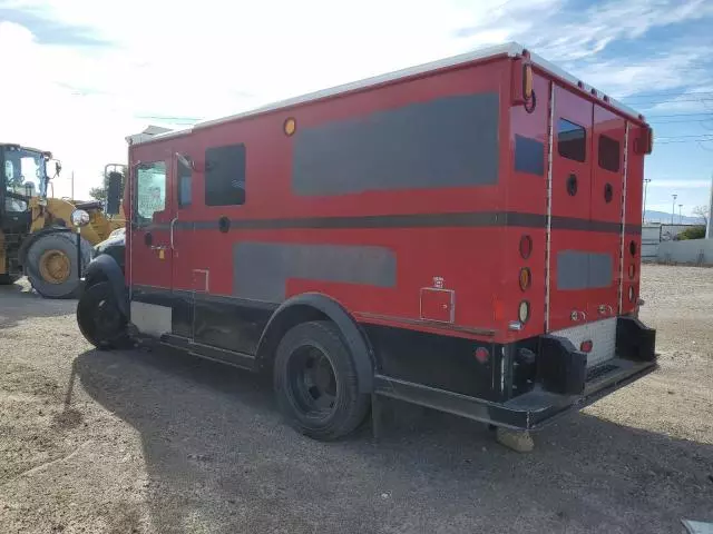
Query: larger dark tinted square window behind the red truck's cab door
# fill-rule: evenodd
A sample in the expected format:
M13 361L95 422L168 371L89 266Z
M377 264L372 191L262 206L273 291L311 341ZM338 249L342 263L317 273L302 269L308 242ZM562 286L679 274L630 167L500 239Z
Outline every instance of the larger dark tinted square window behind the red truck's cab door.
M208 148L205 162L206 206L245 204L245 145Z

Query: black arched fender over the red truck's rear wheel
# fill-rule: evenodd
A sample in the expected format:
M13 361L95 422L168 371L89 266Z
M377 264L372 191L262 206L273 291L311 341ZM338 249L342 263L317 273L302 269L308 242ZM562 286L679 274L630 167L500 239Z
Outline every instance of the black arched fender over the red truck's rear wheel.
M282 336L293 326L310 320L330 319L340 329L352 354L359 375L360 393L373 390L374 358L367 337L349 312L336 300L320 293L294 296L280 305L267 322L257 344L260 365L272 362Z

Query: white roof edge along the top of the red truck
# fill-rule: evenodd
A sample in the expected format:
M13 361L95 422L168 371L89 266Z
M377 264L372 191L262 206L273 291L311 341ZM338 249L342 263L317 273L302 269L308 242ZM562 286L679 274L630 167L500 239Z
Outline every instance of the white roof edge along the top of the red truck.
M240 113L229 115L227 117L205 120L202 122L197 122L192 127L184 128L180 130L170 130L170 131L164 131L160 134L152 135L149 130L154 127L149 126L146 130L144 130L140 134L126 137L126 140L129 142L129 145L143 145L145 142L186 135L195 130L199 130L203 128L207 128L207 127L224 123L224 122L229 122L236 119L243 119L243 118L247 118L256 115L266 113L270 111L276 111L280 109L297 106L300 103L306 103L313 100L330 98L330 97L343 95L351 91L356 91L356 90L364 89L372 86L380 86L382 83L395 81L401 78L419 76L419 75L432 72L432 71L449 68L449 67L457 67L459 65L469 63L471 61L496 58L501 56L514 58L514 57L521 56L522 52L525 52L526 50L527 49L525 47L522 47L521 44L515 41L508 42L505 44L498 44L495 47L481 48L481 49L472 50L470 52L461 53L458 56L451 56L449 58L439 59L437 61L430 61L428 63L417 65L413 67L395 70L392 72L387 72L384 75L379 75L371 78L364 78L362 80L344 83L341 86L335 86L335 87L323 89L320 91L310 92L310 93L302 95L294 98L289 98L286 100L280 100L277 102L268 103L260 108L243 111ZM593 97L594 96L599 98L604 97L604 92L598 91L594 87L584 83L582 80L566 72L565 70L557 67L556 65L547 61L545 58L536 53L529 52L529 50L528 50L528 53L529 53L531 63L535 65L536 67L539 67L540 69L549 72L556 78L559 78L564 81L572 83L574 87L578 87L583 91L586 91L593 95ZM613 98L607 97L607 100L605 101L605 103L616 109L617 111L631 117L632 119L643 121L643 118L638 112L636 112L634 109L629 108L628 106Z

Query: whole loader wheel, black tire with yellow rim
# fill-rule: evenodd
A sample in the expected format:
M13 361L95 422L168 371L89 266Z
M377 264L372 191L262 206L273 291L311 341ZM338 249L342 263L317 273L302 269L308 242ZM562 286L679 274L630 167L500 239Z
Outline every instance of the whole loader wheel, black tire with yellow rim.
M81 269L91 260L91 245L81 239ZM77 235L57 231L39 237L27 253L27 277L45 298L77 298Z

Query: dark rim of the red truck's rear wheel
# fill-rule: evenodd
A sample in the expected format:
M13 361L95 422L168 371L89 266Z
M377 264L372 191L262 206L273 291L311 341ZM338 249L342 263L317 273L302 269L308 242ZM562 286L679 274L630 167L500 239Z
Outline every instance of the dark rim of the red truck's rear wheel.
M325 419L336 405L338 382L332 363L318 347L300 347L292 354L287 369L292 397L311 418Z

